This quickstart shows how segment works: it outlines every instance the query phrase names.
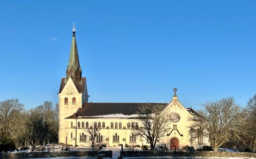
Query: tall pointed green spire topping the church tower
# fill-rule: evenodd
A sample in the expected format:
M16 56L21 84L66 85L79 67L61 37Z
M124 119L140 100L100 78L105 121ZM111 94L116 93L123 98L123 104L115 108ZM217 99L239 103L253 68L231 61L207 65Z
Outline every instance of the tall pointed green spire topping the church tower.
M76 29L75 23L73 25L73 37L71 43L71 50L69 54L69 60L66 70L66 78L68 77L78 77L81 78L82 70L79 63L78 50L77 50L77 41L76 41Z

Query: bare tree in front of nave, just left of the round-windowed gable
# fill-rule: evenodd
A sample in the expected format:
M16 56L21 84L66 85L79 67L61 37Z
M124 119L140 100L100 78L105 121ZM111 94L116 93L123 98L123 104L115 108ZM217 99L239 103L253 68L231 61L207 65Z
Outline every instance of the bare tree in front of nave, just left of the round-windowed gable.
M138 119L132 121L132 133L141 136L150 143L154 151L158 139L170 132L170 116L162 105L142 105L137 112Z

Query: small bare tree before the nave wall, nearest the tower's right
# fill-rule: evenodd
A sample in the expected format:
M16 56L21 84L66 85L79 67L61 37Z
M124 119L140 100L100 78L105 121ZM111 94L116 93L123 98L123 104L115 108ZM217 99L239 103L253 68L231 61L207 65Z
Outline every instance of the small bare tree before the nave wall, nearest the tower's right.
M95 150L102 145L104 137L100 134L101 128L97 125L97 122L90 123L88 127L85 128L86 142Z

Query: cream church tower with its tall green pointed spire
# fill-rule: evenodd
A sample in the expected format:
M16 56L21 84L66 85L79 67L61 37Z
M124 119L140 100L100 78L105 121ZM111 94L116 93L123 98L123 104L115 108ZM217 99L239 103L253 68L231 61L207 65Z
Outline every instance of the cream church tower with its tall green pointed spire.
M66 68L66 77L61 79L59 96L59 143L65 143L68 129L73 127L73 123L68 123L66 117L73 115L84 103L88 102L88 93L86 78L82 77L82 69L79 63L75 23L73 28L73 37L71 50L69 54L68 65ZM75 123L74 123L75 126Z

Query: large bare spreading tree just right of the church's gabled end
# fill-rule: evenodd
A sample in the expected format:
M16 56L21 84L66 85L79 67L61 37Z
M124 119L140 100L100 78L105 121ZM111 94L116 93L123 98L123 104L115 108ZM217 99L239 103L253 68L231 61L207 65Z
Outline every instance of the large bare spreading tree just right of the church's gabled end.
M200 115L189 119L192 122L189 134L193 141L199 136L207 137L214 144L214 151L218 151L225 142L239 138L243 111L234 98L205 102L202 107Z

